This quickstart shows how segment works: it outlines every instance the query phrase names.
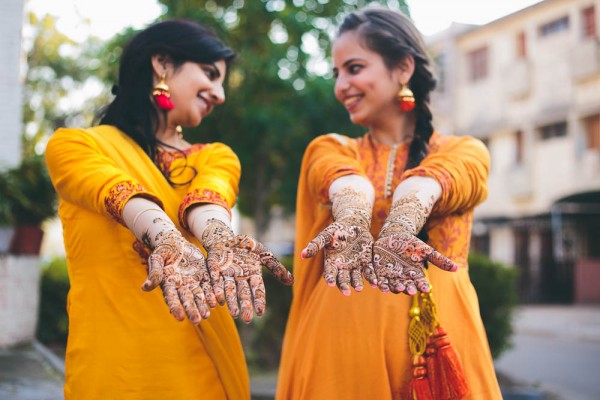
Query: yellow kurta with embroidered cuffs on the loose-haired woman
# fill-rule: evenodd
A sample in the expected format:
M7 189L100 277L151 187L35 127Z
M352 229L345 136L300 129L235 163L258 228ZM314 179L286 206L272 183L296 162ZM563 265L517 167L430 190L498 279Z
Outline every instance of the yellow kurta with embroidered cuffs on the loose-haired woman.
M173 171L185 163L181 154L161 156L164 168ZM240 165L229 147L194 145L186 157L198 174L173 188L143 150L114 127L59 129L48 143L71 283L66 399L250 397L241 343L227 309L211 310L199 327L175 320L160 288L141 290L147 249L121 223L132 196L161 204L180 226L192 204L228 209L234 204ZM176 180L185 181L190 173L184 169Z

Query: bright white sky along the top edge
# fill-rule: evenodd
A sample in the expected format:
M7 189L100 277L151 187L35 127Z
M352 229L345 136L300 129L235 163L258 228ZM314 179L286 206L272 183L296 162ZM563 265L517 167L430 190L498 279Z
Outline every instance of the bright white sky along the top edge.
M407 0L424 35L444 30L452 22L483 25L539 1ZM127 26L141 28L162 12L156 0L25 0L25 9L58 16L58 28L78 41L89 35L108 39Z

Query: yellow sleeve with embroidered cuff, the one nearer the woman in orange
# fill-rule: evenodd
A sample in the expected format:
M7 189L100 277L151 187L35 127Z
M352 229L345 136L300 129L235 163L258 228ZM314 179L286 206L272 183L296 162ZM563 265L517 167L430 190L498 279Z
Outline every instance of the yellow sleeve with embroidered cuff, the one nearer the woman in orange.
M238 156L222 143L212 143L203 148L195 166L198 175L179 207L179 223L187 230L186 211L194 204L217 204L231 210L239 191L242 169Z

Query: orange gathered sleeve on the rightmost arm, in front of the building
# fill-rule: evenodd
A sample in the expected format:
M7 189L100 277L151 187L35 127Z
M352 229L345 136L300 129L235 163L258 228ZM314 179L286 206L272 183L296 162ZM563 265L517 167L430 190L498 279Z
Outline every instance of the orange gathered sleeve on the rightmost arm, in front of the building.
M442 195L432 215L460 213L487 198L490 156L485 145L470 136L451 137L430 153L403 179L428 176L442 186Z

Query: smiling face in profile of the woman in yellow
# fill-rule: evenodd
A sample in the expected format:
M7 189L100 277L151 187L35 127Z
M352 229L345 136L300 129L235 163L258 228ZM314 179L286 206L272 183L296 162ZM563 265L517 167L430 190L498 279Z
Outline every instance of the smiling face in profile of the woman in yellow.
M223 104L226 69L223 60L212 64L185 62L176 70L167 64L166 83L174 106L167 113L167 124L198 126L215 106Z

